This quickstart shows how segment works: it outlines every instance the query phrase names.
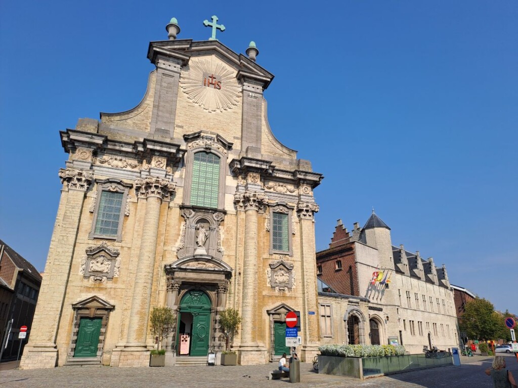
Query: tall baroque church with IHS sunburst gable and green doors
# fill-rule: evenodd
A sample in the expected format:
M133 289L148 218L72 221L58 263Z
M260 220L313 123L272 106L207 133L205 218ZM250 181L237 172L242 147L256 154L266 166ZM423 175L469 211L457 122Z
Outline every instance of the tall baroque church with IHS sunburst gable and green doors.
M168 365L220 354L227 307L242 317L240 364L286 351L292 310L301 359L318 352L313 189L323 177L272 133L263 93L274 76L255 44L238 54L176 39L176 27L149 44L156 68L135 108L60 132L63 187L21 368L147 366L155 306L175 312Z

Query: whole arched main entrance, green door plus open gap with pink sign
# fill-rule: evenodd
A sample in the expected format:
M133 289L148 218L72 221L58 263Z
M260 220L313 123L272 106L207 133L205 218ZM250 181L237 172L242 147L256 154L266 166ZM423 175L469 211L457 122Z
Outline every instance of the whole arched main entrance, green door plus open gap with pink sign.
M210 307L210 299L203 291L191 290L182 297L176 336L179 355L208 354Z

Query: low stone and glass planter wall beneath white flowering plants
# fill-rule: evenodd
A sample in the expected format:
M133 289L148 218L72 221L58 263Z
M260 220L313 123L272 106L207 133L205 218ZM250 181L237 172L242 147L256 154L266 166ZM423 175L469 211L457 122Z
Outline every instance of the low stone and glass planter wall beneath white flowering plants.
M431 356L430 356L431 355ZM451 353L405 354L383 357L337 357L319 355L319 373L367 379L416 369L452 365Z

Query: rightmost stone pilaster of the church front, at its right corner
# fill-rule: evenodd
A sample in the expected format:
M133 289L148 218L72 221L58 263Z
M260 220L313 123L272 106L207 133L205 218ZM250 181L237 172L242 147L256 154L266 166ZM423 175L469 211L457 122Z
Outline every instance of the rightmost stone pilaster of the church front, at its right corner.
M315 261L315 231L314 213L319 211L319 205L311 202L299 202L297 215L299 217L300 230L300 263L301 283L305 290L302 303L303 310L300 317L302 322L301 360L309 362L318 352L320 345L320 322L318 288L316 285L316 261ZM315 311L315 315L309 315L308 311Z

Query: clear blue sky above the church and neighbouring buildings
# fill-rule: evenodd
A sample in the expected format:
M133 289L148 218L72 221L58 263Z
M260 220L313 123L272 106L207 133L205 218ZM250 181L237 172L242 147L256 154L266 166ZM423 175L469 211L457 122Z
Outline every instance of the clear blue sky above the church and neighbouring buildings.
M376 213L394 245L518 314L518 2L0 2L0 238L44 269L59 130L137 105L148 43L222 43L276 78L269 122L325 175L316 248ZM193 6L193 4L196 4ZM256 3L253 3L256 4Z

